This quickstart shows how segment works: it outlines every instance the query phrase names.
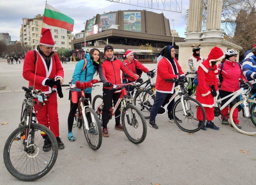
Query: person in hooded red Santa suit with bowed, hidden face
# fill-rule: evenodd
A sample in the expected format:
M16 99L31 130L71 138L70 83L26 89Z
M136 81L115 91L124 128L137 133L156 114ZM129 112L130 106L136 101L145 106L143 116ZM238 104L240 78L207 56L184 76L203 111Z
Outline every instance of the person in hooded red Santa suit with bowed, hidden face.
M211 128L219 130L219 127L215 126L214 119L214 98L217 96L218 86L216 74L218 73L216 63L224 58L223 51L219 47L213 47L211 49L208 58L202 62L198 67L198 86L196 99L203 105L207 123L202 127L202 130ZM197 109L197 119L199 125L203 124L203 113L200 109ZM199 126L198 125L198 126Z

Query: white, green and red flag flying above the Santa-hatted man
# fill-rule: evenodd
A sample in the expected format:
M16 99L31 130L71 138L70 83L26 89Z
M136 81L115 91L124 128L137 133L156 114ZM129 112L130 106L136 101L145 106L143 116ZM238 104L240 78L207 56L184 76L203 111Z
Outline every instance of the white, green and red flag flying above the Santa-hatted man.
M45 13L43 17L45 24L61 27L70 31L73 31L74 20L67 15L64 15L61 11L55 9L49 4L45 4Z

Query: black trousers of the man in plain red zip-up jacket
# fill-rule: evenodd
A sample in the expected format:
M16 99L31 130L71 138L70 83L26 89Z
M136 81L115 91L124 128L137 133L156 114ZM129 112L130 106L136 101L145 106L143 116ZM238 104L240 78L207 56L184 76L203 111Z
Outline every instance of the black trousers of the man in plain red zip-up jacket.
M110 113L109 108L112 107L112 100L114 101L114 105L117 103L121 93L114 94L115 91L119 91L121 89L103 89L103 110L102 110L102 125L103 129L107 128L107 124L109 122L108 114ZM120 125L120 112L121 103L119 103L117 110L115 111L115 125Z

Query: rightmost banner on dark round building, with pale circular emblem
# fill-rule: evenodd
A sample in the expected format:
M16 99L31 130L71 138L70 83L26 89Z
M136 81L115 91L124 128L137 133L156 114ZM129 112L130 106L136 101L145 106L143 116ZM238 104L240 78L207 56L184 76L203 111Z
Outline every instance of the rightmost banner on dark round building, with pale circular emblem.
M141 32L140 12L124 12L124 30Z

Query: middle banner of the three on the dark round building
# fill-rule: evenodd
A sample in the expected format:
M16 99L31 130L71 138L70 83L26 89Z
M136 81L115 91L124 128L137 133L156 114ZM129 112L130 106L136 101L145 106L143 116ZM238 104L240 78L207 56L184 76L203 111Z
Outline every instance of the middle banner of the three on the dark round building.
M99 30L101 29L101 31L105 31L108 29L112 29L113 26L111 25L115 25L115 18L116 13L107 13L100 15Z

